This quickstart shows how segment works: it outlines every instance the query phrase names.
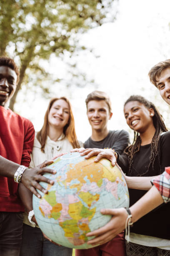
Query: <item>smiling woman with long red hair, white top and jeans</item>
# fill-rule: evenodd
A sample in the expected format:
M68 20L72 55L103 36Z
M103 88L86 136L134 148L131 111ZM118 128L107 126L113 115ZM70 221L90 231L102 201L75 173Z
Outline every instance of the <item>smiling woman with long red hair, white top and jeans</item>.
M35 136L30 166L37 166L46 159L72 148L80 148L70 102L65 97L50 100L42 129ZM32 211L31 211L32 212ZM35 220L33 212L29 219ZM24 214L23 242L20 256L72 256L72 249L57 246L43 237L40 228L30 223L28 213Z

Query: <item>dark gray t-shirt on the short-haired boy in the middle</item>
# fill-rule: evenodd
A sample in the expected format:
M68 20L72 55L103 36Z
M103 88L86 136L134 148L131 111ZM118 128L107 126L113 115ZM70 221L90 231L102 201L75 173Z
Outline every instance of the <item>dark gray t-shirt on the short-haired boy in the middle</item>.
M88 138L84 143L84 148L113 148L118 154L122 154L129 142L129 133L127 131L109 131L102 141L93 141Z

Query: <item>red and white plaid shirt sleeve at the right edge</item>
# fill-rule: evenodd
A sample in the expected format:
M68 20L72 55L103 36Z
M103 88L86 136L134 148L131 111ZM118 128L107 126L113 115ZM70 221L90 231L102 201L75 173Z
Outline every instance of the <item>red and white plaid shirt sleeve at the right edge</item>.
M151 182L159 190L164 202L170 202L170 167L166 167L165 172Z

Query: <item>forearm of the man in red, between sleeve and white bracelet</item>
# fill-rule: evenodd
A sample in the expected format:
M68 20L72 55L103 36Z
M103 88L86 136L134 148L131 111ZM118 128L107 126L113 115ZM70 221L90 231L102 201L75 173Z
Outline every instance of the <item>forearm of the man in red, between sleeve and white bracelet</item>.
M20 167L10 160L0 156L0 175L8 178L13 178L16 170Z

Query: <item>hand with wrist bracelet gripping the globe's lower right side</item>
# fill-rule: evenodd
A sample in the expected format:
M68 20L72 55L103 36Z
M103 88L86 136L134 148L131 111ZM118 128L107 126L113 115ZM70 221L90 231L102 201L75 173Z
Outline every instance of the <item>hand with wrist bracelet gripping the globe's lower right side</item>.
M87 244L91 244L92 246L107 243L121 233L125 229L126 219L128 217L125 208L101 209L100 212L113 216L105 226L86 234L87 237L95 236L94 239L87 242Z

